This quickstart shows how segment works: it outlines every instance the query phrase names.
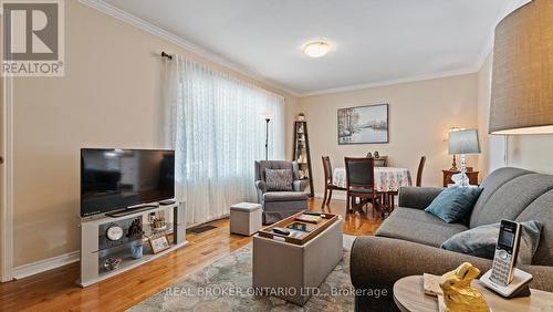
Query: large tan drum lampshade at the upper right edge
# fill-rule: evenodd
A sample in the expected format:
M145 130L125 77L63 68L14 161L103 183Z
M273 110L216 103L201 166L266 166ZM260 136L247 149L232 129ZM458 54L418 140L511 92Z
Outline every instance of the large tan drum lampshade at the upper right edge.
M553 1L534 0L495 28L490 134L553 133Z

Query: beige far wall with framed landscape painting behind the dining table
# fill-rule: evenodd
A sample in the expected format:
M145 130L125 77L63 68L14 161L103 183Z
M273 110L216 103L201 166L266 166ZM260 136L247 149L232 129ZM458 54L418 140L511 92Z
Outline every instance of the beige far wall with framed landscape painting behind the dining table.
M469 74L300 98L298 110L305 113L309 125L315 193L323 193L321 156L343 167L345 156L375 150L388 155L390 166L409 168L414 179L420 156L426 155L422 184L440 186L441 169L451 167L448 131L478 126L477 83L478 76ZM389 144L337 144L337 108L382 103L389 104ZM477 157L469 158L469 166L478 169Z

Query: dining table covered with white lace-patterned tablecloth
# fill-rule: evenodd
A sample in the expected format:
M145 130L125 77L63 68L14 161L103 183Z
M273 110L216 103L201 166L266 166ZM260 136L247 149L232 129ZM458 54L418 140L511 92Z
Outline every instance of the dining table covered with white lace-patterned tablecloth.
M346 187L345 167L334 168L332 184L337 187ZM400 167L375 167L375 190L394 194L404 186L413 186L411 174L407 168ZM388 196L386 196L388 198ZM393 199L392 199L393 200ZM385 202L387 210L392 211L393 202Z

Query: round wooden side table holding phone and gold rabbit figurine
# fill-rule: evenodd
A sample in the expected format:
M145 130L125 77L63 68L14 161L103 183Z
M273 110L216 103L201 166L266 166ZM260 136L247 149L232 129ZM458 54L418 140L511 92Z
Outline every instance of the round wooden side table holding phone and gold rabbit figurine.
M553 311L553 293L551 292L531 289L530 297L503 299L482 285L480 281L473 281L472 285L483 294L492 311ZM404 312L439 311L438 299L425 294L421 275L398 280L394 284L394 301Z

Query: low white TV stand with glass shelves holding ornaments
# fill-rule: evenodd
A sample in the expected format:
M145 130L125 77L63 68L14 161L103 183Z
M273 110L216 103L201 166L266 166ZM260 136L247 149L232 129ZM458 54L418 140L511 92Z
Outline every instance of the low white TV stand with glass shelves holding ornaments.
M186 210L185 204L176 204L153 207L147 210L138 209L136 212L122 217L107 217L98 215L85 217L81 219L81 278L77 283L81 287L87 287L97 283L102 280L112 278L133 268L139 267L146 262L155 260L168 252L171 252L187 243L186 241ZM149 223L148 215L156 211L165 210L166 221L168 222L166 235L173 235L173 241L169 241L171 247L159 253L154 254L149 251L148 243L144 243L144 254L140 259L131 258L131 245L137 243L138 239L127 239L118 246L101 246L101 240L105 232L103 229L111 223L128 222L129 220L142 218L143 230L148 233ZM126 235L126 232L125 232ZM125 237L124 235L124 237ZM104 269L104 260L109 257L118 257L123 262L115 270L108 271Z

